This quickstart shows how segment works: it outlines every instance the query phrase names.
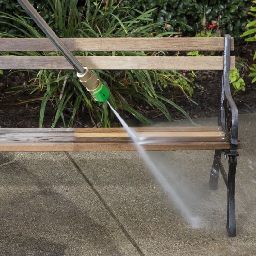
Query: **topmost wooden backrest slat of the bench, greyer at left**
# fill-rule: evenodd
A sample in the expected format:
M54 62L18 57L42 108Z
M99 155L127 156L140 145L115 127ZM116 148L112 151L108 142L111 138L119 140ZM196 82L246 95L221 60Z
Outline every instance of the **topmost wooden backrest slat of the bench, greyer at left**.
M61 38L71 51L223 51L224 38ZM234 39L231 39L234 50ZM0 38L0 51L57 51L48 38Z

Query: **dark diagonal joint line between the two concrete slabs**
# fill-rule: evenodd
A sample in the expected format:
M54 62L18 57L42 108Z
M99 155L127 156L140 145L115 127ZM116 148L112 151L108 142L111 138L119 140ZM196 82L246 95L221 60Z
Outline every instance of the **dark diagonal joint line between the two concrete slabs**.
M115 215L115 213L110 209L110 207L108 206L108 204L106 203L106 201L104 201L104 199L101 197L101 194L97 191L97 189L93 186L93 184L91 183L91 181L86 177L86 175L82 172L82 169L79 167L79 165L73 160L73 158L71 157L71 155L68 152L65 152L65 154L67 155L67 157L69 158L69 160L72 162L72 164L74 165L74 167L78 170L78 172L82 175L83 179L85 180L85 182L89 185L89 187L91 188L91 190L94 192L94 194L98 197L98 199L101 201L101 203L103 204L103 206L105 207L105 209L109 212L109 214L111 215L111 217L115 220L115 222L118 224L119 228L122 230L122 232L124 233L124 235L126 236L126 238L130 241L130 243L136 248L137 252L139 253L139 255L144 256L145 254L143 253L143 251L141 250L141 248L138 246L138 244L136 243L135 239L128 233L128 231L125 229L125 227L123 226L123 224L121 223L121 221L117 218L117 216Z

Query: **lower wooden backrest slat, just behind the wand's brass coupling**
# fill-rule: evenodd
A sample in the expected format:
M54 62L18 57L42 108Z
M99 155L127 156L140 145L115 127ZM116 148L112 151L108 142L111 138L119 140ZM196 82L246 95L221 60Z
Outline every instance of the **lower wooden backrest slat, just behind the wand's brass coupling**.
M83 66L98 70L223 70L223 57L77 57ZM73 69L63 57L0 57L0 69ZM235 69L231 57L230 69Z

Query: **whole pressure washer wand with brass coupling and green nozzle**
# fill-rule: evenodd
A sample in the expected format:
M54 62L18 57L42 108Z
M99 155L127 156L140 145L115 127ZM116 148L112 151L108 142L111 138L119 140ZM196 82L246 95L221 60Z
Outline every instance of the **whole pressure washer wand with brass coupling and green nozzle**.
M66 60L77 71L79 81L91 93L93 98L98 102L106 101L110 96L109 88L101 84L99 79L87 67L83 67L71 51L64 45L55 32L49 27L46 21L39 15L37 10L30 4L28 0L17 0L20 6L27 14L36 22L37 26L44 32L57 49L64 55Z

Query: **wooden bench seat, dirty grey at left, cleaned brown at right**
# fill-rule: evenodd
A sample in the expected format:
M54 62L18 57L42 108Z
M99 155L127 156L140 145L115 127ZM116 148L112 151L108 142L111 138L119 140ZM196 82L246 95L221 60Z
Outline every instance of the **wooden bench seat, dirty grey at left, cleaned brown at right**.
M95 130L96 129L96 130ZM135 128L146 150L229 149L220 127ZM7 131L7 132L5 132ZM123 128L0 128L0 151L136 150Z

